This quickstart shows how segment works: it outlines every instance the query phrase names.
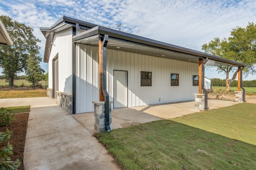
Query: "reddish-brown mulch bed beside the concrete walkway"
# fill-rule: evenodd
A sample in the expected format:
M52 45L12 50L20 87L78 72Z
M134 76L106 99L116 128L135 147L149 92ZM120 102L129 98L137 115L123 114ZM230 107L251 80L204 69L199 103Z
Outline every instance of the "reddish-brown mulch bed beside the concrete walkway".
M17 113L15 115L16 121L12 121L12 124L7 127L11 132L11 137L9 139L10 144L13 147L13 155L10 155L11 160L16 160L17 158L21 161L19 170L24 170L23 166L23 152L26 141L26 133L28 128L28 115L29 113ZM0 127L1 132L6 132L6 127ZM0 144L0 147L7 146L7 143Z

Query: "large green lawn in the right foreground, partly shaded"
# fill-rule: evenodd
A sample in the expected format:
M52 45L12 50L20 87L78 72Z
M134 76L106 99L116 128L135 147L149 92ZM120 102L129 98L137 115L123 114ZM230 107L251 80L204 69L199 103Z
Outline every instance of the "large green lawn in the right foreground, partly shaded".
M256 104L96 134L124 170L255 169Z

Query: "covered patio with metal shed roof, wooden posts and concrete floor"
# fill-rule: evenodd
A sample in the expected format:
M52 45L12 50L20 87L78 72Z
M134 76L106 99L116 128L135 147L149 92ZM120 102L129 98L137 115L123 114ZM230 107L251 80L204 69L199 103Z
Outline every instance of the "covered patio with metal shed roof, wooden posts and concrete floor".
M246 64L239 63L237 61L224 59L222 57L210 55L207 53L202 53L200 51L194 51L191 49L186 49L184 47L178 47L176 45L171 45L168 43L163 43L163 42L148 39L145 37L124 33L122 31L117 31L117 30L109 29L102 26L96 26L78 35L75 35L72 40L73 40L73 43L76 43L77 45L83 44L83 45L89 45L92 47L93 46L98 47L98 54L99 54L98 55L99 74L98 75L99 75L99 84L100 84L99 102L98 101L94 102L94 108L100 107L100 105L104 104L104 113L103 112L95 113L95 115L97 115L95 116L96 117L95 125L96 125L96 129L98 129L97 131L99 132L104 132L103 124L105 125L106 131L110 131L111 129L126 127L127 125L133 125L136 123L146 123L147 121L154 121L158 119L170 119L173 117L182 116L189 113L194 113L196 112L195 108L198 111L203 111L205 109L208 110L208 109L214 109L217 107L223 107L222 104L224 103L222 103L222 101L220 102L218 101L218 104L216 105L214 103L216 103L217 101L208 102L207 89L204 87L205 65L238 67L238 92L240 93L239 94L240 96L241 94L244 93L244 92L240 92L240 88L242 88L242 69L246 66ZM107 73L108 73L107 58L109 56L106 55L106 49L135 53L140 55L148 55L156 58L171 59L174 61L182 61L186 63L198 64L198 83L197 83L198 93L194 93L196 104L194 103L192 104L188 102L188 103L180 103L178 104L178 106L176 106L176 104L171 104L171 105L161 104L161 105L150 105L150 106L140 106L140 107L130 106L130 108L124 108L122 109L122 111L121 109L117 109L119 110L118 112L116 112L116 109L114 109L112 111L112 123L111 123L111 113L110 113L111 112L110 109L112 108L110 104L111 95L108 94L108 90L107 90L107 84L108 84L107 83ZM109 68L108 68L108 71L109 71ZM193 84L193 86L196 86L196 85ZM182 92L184 92L184 90L180 91L180 93ZM188 93L189 92L184 94L188 95ZM190 94L191 93L192 91L190 92ZM180 96L180 94L178 94L177 96ZM239 97L239 99L240 98L241 97ZM159 98L159 101L160 100L161 98ZM191 100L191 99L186 99L186 100ZM186 100L183 100L183 101L186 101ZM208 104L210 108L208 107ZM234 102L230 104L234 104ZM176 108L176 111L174 111L175 110L174 108ZM97 109L94 109L94 110L97 110ZM128 119L126 119L127 115L125 113L127 113L127 115L129 116ZM74 115L74 117L80 117L80 116L82 115ZM83 115L83 116L86 117L86 115ZM84 125L87 126L92 124L94 122L93 119L94 119L94 116L92 116L92 118L88 117L86 121L90 120L90 122L87 122ZM104 122L103 119L105 119L105 123L103 123ZM102 124L98 124L100 122L102 122ZM92 127L93 129L94 126L92 125L90 127ZM86 127L86 129L90 129L90 128ZM93 133L91 129L89 131Z

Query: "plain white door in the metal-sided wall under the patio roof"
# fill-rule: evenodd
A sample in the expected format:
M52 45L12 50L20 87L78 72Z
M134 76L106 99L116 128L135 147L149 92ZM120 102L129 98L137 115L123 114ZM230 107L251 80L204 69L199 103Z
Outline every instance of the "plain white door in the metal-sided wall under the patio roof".
M127 107L127 71L114 70L114 108Z

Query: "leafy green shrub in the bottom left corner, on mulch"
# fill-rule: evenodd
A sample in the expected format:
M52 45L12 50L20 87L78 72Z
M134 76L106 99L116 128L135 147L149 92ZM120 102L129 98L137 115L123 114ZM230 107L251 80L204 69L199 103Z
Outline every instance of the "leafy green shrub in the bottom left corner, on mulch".
M6 132L0 132L0 143L3 141L7 142L10 139L10 132L6 128ZM15 161L12 161L8 155L12 155L12 145L8 142L7 147L2 147L0 150L0 169L1 170L18 170L20 167L20 160L17 158Z

